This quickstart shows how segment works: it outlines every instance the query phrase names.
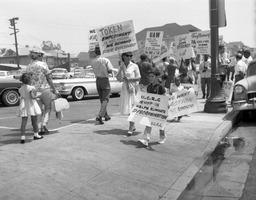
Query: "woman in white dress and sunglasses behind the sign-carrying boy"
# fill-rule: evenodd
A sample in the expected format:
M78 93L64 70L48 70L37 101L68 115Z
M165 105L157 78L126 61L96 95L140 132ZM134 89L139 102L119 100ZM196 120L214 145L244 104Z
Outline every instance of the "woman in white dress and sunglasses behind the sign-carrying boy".
M117 80L123 82L120 94L119 112L123 115L129 115L135 100L135 90L129 93L125 82L130 82L135 86L136 82L140 80L140 70L138 65L131 62L132 52L126 52L121 55L123 63L118 67ZM130 121L128 134L132 134L135 130L134 122Z

